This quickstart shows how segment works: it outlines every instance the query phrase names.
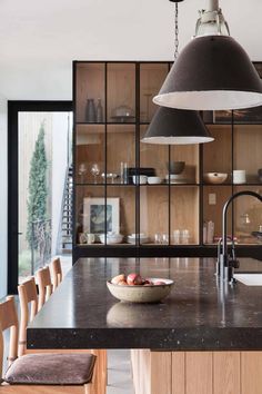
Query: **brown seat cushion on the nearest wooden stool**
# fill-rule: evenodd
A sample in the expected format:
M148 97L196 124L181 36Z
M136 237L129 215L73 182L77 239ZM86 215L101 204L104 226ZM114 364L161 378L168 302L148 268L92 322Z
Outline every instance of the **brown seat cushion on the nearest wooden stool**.
M27 354L8 368L9 384L80 385L92 378L95 356L89 353Z

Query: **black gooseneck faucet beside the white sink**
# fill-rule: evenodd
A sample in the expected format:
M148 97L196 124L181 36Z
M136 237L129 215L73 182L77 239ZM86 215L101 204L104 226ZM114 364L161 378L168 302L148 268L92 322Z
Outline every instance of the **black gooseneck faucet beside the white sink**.
M228 208L230 204L240 196L253 196L258 198L262 203L262 196L260 196L255 191L251 190L243 190L235 193L232 195L228 201L223 206L223 213L222 213L222 253L220 253L219 256L219 269L218 274L220 275L220 280L226 280L229 283L233 283L234 279L234 268L238 268L238 260L235 259L235 256L233 256L232 259L229 258L228 254L228 236L226 236L226 214L228 214ZM233 239L232 239L232 245L234 245ZM220 248L220 245L219 245ZM234 252L234 247L233 247ZM233 253L234 254L234 253Z

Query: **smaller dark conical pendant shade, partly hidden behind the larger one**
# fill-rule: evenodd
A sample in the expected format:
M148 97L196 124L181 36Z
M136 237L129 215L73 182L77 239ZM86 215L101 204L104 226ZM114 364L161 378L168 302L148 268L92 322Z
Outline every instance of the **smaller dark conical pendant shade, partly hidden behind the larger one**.
M196 111L160 107L142 142L188 145L210 142L212 140L213 137Z

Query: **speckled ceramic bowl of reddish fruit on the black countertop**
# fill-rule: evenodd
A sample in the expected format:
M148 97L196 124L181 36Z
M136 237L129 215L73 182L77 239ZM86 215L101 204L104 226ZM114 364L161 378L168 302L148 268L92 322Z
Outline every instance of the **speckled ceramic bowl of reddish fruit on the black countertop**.
M107 282L112 296L130 303L158 303L170 294L172 285L171 279L143 278L137 273L120 274Z

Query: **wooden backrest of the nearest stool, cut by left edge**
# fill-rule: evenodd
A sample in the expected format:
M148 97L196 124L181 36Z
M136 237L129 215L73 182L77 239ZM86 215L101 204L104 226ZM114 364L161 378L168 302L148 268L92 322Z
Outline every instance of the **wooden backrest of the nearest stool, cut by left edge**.
M7 299L0 304L0 377L2 376L3 362L3 335L2 333L10 328L9 343L9 365L18 356L18 314L14 304L14 297L8 296Z

